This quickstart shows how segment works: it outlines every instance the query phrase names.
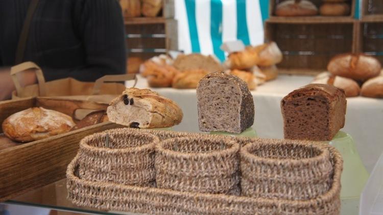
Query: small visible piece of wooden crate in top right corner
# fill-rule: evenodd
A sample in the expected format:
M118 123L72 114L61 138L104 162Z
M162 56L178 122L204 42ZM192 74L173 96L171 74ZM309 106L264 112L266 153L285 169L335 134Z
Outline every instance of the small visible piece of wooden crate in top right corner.
M382 0L360 0L362 1L362 19L364 21L383 21Z

